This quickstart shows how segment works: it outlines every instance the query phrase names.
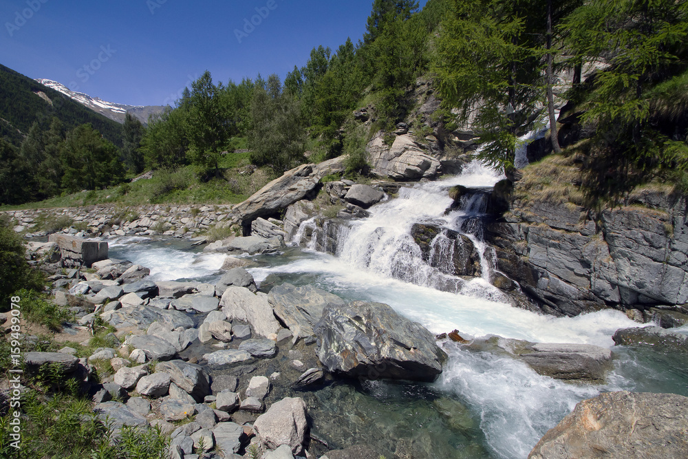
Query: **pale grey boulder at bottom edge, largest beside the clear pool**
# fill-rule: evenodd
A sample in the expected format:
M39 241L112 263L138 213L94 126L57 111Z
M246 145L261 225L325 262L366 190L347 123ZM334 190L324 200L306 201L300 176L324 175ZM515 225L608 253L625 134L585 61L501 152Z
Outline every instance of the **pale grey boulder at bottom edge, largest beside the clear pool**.
M306 408L303 398L283 398L273 403L266 414L258 416L253 428L261 442L269 449L288 445L292 453L303 451L303 442L308 431Z

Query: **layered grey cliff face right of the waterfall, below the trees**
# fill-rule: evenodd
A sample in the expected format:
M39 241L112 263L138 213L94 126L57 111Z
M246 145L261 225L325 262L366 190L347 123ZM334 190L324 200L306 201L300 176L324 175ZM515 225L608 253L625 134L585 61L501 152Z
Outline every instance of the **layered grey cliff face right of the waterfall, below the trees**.
M497 268L555 314L667 306L685 312L685 196L646 189L623 206L593 213L576 203L579 191L566 182L573 164L560 162L555 184L533 186L541 171L536 167L528 177L526 170L509 195L509 210L488 225Z

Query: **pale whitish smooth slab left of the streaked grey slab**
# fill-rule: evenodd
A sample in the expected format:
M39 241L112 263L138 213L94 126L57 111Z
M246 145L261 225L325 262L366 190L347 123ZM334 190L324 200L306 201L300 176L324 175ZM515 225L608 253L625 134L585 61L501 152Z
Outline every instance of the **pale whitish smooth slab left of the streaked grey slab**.
M228 319L250 323L251 329L263 337L277 334L281 328L265 293L253 293L248 288L230 286L219 304Z

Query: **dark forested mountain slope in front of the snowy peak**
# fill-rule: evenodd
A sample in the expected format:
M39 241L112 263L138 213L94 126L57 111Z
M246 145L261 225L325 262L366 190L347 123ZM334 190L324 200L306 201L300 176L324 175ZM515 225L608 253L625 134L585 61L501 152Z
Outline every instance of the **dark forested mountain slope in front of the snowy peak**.
M104 138L122 146L122 125L94 113L61 92L0 65L0 137L19 145L34 122L42 129L59 118L67 130L90 123Z

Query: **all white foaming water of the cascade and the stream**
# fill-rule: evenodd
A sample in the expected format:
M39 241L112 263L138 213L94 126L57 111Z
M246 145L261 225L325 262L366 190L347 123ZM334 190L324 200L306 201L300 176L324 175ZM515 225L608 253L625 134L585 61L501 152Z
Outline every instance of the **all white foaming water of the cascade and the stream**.
M431 288L440 275L419 261L417 244L409 235L416 222L433 222L458 231L458 226L480 209L456 210L445 215L452 203L450 186L488 187L499 174L473 163L464 173L447 180L402 188L399 197L374 206L371 216L356 220L341 233L338 256L305 249L298 257L270 266L251 268L256 281L278 275L294 283L308 282L345 299L387 303L401 314L422 323L431 332L458 329L466 338L498 335L544 343L589 343L611 348L612 334L637 324L625 314L605 310L573 318L555 318L517 309L486 277L458 282L459 293ZM314 229L314 221L305 228ZM472 240L480 250L484 244ZM125 246L127 246L125 248ZM158 280L217 275L224 255L204 255L169 246L132 244L120 239L115 251L151 268ZM485 260L482 259L483 265ZM294 279L297 279L294 281ZM446 279L445 279L446 280ZM469 351L445 343L449 354L442 376L434 383L445 394L467 405L484 432L491 454L499 458L525 458L537 440L575 404L602 390L626 389L632 381L613 374L606 386L573 385L539 376L528 365L490 352Z

